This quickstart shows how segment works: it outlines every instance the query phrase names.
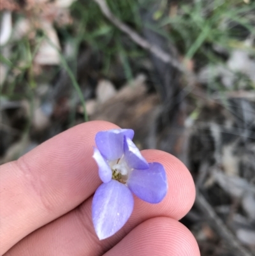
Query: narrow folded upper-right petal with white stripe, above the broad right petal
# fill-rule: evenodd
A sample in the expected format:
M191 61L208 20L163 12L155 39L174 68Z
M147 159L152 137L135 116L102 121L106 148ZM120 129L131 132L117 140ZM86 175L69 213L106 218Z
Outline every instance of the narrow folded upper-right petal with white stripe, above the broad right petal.
M128 137L124 137L124 159L130 168L149 169L149 164L143 158L139 149Z

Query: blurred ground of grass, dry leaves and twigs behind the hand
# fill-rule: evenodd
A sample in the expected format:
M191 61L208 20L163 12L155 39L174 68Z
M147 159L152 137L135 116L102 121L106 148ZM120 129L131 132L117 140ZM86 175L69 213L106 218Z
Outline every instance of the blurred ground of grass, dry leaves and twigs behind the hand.
M254 255L254 1L1 0L0 10L1 163L87 120L133 128L138 147L191 170L198 196L182 222L201 255Z

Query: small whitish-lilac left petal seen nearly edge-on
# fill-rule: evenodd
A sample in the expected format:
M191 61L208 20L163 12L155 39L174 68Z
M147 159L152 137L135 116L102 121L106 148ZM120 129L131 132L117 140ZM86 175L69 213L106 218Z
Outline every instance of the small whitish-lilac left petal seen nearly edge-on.
M110 166L106 162L105 158L103 158L103 156L100 154L99 150L96 149L96 147L94 147L93 158L98 164L98 173L101 181L104 183L109 182L112 179L112 170L110 169Z

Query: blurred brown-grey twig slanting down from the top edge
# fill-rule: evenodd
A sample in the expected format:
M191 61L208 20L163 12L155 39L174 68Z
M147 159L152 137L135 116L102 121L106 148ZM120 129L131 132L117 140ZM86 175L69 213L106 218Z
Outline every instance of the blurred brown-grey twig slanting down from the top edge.
M187 73L186 68L184 68L184 66L180 64L179 61L173 59L170 54L164 52L164 50L160 49L156 45L152 45L151 43L149 43L149 41L145 40L142 36L136 33L136 31L133 31L133 29L117 19L108 8L105 0L94 1L98 3L102 13L122 32L128 34L129 38L131 38L131 40L133 40L136 44L140 45L140 47L142 47L143 49L152 52L155 56L161 59L161 61L164 61L164 63L171 63L171 65L177 68L177 70L179 70L180 72Z

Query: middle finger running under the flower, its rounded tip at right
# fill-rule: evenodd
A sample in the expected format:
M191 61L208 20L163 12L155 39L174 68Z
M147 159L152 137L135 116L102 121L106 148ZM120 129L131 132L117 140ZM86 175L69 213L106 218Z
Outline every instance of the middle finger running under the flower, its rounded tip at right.
M158 150L143 151L149 162L160 162L166 169L168 193L159 204L148 204L135 198L135 207L128 223L114 236L99 241L91 217L92 197L79 207L36 230L10 250L11 256L25 248L23 255L101 255L126 236L137 225L157 216L179 220L186 215L194 202L194 183L183 163L171 154ZM19 254L22 256L22 254Z

